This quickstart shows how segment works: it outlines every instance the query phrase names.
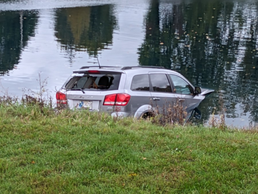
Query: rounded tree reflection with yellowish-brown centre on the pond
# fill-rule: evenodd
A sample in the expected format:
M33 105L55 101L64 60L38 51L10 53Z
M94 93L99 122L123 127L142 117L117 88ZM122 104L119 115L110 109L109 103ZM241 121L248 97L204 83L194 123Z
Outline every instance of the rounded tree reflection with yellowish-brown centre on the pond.
M97 56L99 50L112 45L116 23L112 5L62 8L56 11L55 34L70 60L81 50Z

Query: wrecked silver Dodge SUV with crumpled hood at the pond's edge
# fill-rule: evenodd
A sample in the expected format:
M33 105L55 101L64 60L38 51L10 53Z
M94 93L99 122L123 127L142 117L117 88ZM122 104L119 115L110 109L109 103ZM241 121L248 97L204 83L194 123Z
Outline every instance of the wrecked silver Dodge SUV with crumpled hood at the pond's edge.
M158 66L86 66L73 71L56 93L56 102L58 107L141 118L165 102L182 101L193 113L213 91L193 87L178 72Z

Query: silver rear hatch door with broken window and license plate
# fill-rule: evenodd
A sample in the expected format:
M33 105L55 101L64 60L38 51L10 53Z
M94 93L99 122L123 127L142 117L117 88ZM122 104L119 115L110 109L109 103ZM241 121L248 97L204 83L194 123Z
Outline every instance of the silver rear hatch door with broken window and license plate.
M69 108L100 111L105 96L117 93L121 74L106 70L75 72L64 85Z

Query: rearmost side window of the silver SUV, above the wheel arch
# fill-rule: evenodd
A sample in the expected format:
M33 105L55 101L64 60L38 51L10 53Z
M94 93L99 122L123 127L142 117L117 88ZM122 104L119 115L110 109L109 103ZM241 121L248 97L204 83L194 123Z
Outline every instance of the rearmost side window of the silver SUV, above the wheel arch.
M131 90L150 91L148 74L133 77Z

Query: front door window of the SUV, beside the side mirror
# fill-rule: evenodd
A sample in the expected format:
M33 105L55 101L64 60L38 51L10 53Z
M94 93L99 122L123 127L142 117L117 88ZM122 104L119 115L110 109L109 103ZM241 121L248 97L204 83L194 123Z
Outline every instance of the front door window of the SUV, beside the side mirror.
M173 84L175 86L174 92L178 94L187 94L192 95L192 89L191 86L183 80L181 77L178 77L176 75L170 75Z

